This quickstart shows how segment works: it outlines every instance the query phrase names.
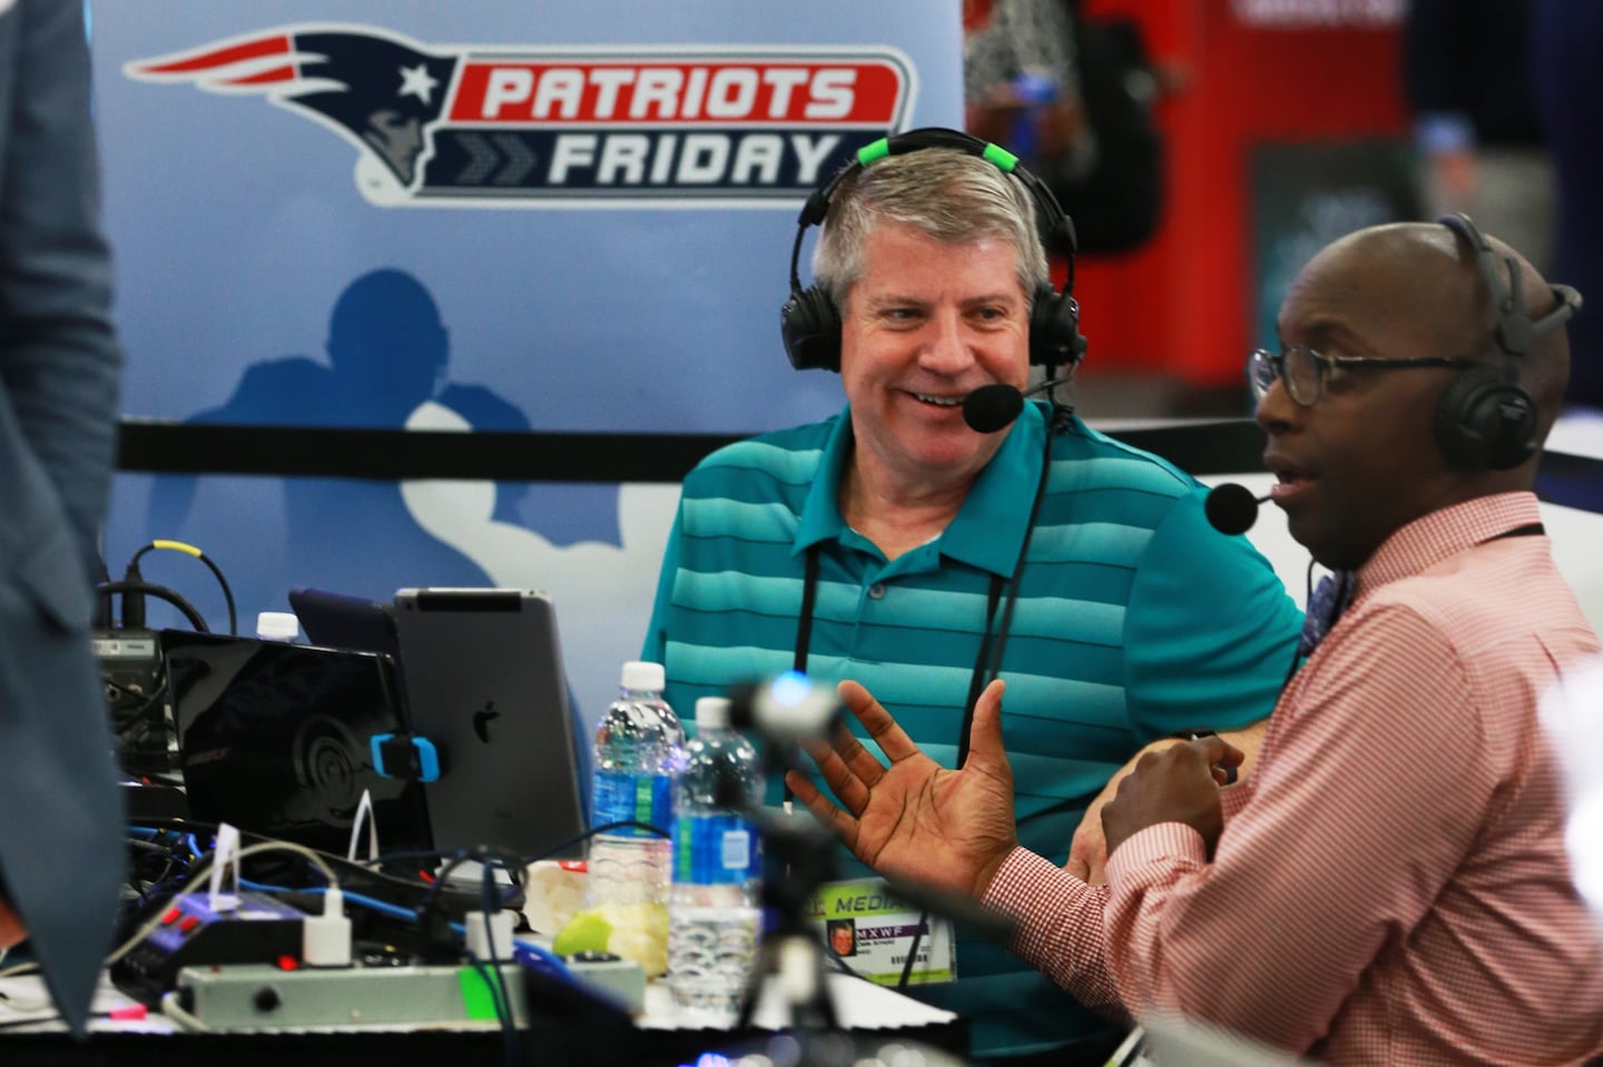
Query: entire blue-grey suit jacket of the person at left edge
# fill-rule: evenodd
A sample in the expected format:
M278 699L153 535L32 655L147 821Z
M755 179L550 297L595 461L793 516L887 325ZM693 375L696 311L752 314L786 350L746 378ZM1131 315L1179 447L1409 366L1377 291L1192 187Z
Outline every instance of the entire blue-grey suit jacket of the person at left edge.
M90 650L119 354L80 0L0 11L0 872L82 1032L117 921L120 796Z

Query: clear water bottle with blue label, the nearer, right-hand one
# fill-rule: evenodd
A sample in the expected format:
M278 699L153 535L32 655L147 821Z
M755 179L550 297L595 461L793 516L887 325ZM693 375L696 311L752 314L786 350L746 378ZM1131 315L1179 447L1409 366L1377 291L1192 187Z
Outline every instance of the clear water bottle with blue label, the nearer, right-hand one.
M733 1022L757 961L761 843L720 799L763 795L757 750L729 729L729 702L696 702L696 739L673 793L668 988L681 1008Z

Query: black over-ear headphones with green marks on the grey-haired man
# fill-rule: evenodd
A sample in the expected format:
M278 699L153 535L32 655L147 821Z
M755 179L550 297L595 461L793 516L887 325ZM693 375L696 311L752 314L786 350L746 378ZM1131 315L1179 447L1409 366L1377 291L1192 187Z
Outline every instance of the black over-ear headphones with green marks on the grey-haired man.
M840 311L822 285L802 288L798 266L802 261L802 236L808 226L819 226L829 213L829 199L840 183L886 155L902 155L930 147L947 147L978 155L995 163L997 170L1018 178L1036 202L1036 223L1048 253L1068 256L1069 276L1063 292L1050 284L1036 290L1029 311L1029 362L1048 367L1074 367L1085 356L1085 338L1080 336L1080 306L1074 296L1074 221L1064 215L1058 199L1039 178L1020 165L1018 157L1007 149L981 141L959 130L927 127L896 136L880 138L858 151L858 159L848 163L824 186L814 189L797 216L797 240L790 248L790 300L779 311L779 332L785 341L785 354L797 370L840 370Z

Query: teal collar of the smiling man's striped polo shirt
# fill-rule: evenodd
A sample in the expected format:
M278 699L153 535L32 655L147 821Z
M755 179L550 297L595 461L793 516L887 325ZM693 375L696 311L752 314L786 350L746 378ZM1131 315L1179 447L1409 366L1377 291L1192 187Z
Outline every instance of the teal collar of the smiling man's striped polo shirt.
M1045 433L1045 407L1026 404L1002 447L979 471L957 517L941 534L943 556L1003 578L1013 574L1034 509ZM840 482L851 458L853 441L848 405L835 417L824 442L818 477L808 490L802 522L797 525L793 553L800 554L822 540L840 538L845 532Z

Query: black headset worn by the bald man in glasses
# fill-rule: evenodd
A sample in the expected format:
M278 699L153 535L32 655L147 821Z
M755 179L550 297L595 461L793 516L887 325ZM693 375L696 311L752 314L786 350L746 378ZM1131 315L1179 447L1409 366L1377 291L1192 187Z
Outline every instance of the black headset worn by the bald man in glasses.
M1436 445L1448 465L1462 471L1507 471L1529 460L1537 449L1536 401L1520 388L1520 362L1537 336L1581 309L1581 293L1552 285L1558 306L1540 319L1524 314L1520 264L1513 256L1497 263L1491 242L1468 215L1438 219L1468 242L1492 303L1492 340L1502 351L1500 365L1476 367L1454 378L1436 401ZM1502 268L1508 285L1502 284Z

